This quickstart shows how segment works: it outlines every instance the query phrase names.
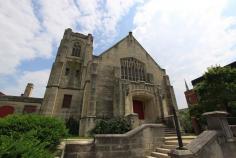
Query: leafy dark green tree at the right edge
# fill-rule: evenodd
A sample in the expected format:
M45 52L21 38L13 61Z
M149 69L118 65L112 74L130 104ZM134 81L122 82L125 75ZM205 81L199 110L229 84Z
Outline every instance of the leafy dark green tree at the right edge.
M210 67L195 90L203 112L226 110L231 113L231 102L236 100L236 68Z

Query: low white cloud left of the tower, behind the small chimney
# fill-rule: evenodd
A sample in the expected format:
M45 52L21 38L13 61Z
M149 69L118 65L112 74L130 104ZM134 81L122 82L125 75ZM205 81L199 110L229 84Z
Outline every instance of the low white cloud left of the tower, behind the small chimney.
M15 77L17 77L16 84L8 86L6 89L3 89L2 92L7 95L20 96L20 94L24 93L27 83L33 83L34 88L32 97L43 97L49 73L50 69L46 69L39 71L25 71L21 76L15 75Z

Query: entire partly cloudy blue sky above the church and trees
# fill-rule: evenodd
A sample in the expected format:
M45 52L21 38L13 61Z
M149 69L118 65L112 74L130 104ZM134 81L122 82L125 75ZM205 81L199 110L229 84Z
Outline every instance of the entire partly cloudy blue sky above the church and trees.
M0 1L0 91L20 95L28 82L43 97L66 28L94 36L100 54L133 31L186 107L184 79L236 60L235 0Z

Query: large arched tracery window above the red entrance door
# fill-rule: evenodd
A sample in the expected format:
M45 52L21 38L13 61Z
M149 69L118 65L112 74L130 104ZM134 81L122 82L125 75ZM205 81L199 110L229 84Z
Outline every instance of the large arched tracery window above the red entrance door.
M145 65L135 58L122 58L121 79L145 81Z

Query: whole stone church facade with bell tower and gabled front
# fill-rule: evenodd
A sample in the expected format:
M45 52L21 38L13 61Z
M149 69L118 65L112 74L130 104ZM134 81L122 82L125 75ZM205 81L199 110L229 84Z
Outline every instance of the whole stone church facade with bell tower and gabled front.
M66 29L40 113L80 120L86 135L100 118L134 115L139 124L164 121L177 108L169 77L130 32L93 55L93 37Z

